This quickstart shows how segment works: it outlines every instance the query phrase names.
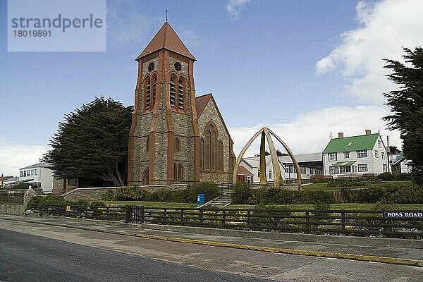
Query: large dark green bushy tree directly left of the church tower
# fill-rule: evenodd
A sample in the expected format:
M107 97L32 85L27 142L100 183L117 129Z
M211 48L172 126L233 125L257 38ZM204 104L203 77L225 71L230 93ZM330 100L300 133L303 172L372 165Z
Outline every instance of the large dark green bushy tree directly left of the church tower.
M44 160L61 178L98 177L124 185L133 107L95 97L59 123Z

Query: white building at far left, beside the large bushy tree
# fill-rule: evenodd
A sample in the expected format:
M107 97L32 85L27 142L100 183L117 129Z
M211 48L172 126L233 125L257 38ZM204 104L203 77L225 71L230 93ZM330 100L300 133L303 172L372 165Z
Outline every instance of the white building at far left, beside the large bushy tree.
M19 169L19 181L25 183L36 183L41 185L43 194L50 194L53 190L53 176L51 164L40 162L32 166L26 166Z

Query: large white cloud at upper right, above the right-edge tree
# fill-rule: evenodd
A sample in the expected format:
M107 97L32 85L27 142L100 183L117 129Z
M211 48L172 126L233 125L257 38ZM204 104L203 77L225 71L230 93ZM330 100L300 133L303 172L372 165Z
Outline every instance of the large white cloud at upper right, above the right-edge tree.
M422 0L360 1L359 27L341 35L341 43L316 63L317 74L340 71L355 102L386 102L381 93L397 86L387 80L382 59L402 61L403 47L423 46L422 11Z

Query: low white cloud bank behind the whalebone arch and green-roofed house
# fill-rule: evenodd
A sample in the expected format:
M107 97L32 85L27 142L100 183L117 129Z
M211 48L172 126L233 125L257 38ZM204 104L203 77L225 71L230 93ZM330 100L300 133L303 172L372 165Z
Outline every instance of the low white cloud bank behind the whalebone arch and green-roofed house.
M400 135L397 131L386 130L386 123L381 118L387 116L389 110L384 106L336 106L333 108L311 111L300 114L290 123L269 125L255 125L252 128L228 128L233 138L235 155L238 157L241 149L263 126L270 128L283 142L290 147L294 154L322 152L332 137L338 137L339 132L344 136L364 135L364 130L370 129L372 133L378 132L383 137L386 145L386 136L389 144L401 146ZM245 157L259 153L259 137L252 143ZM276 149L283 150L282 145L274 139Z

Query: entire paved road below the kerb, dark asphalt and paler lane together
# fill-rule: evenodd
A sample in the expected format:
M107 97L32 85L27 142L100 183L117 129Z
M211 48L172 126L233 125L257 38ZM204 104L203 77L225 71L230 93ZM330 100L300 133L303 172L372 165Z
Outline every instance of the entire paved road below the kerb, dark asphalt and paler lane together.
M40 281L60 281L54 274L65 275L62 281L128 281L131 277L137 277L135 281L423 281L423 268L415 266L237 250L8 220L0 220L0 229L1 246L10 245L5 250L0 247L3 281L20 281L7 280L4 273L10 276L21 268L26 274L52 269L47 275L51 280ZM15 241L26 238L23 233L43 238ZM5 260L15 252L20 255ZM78 273L74 280L68 279L71 271ZM248 278L258 280L244 280Z

